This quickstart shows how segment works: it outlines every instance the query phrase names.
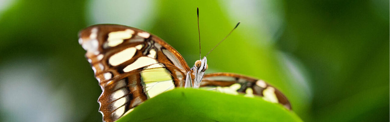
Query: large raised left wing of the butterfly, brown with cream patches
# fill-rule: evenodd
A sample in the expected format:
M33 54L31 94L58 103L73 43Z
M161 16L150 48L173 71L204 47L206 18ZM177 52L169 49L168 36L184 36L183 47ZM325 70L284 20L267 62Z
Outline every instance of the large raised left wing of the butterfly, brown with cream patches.
M103 90L103 120L112 122L159 93L182 87L190 68L168 43L123 25L93 25L79 33L79 43Z

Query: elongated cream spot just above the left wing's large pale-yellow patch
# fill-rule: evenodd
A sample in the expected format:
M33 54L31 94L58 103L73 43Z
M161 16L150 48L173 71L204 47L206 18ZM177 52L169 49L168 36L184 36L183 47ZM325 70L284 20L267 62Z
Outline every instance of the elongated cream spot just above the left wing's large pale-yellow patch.
M135 69L138 69L138 68L141 68L141 67L144 67L147 65L152 65L155 63L158 63L156 61L156 59L152 59L150 57L145 57L145 56L139 57L136 61L134 61L134 63L123 68L123 72L130 72L130 71L133 71Z

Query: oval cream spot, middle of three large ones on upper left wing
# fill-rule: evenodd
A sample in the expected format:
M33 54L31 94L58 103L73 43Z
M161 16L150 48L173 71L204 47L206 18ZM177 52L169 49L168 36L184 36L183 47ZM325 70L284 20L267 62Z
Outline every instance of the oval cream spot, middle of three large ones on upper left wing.
M118 52L110 57L108 59L108 63L112 66L120 65L128 60L130 60L134 54L136 49L134 47L129 47L127 49L122 50L121 52Z

